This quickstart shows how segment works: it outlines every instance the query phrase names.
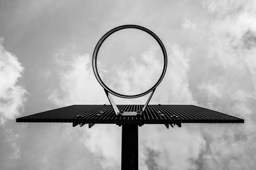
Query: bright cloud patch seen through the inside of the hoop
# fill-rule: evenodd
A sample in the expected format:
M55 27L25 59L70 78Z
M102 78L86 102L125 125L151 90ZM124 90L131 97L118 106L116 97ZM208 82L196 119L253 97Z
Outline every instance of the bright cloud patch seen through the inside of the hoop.
M150 46L147 52L140 53L140 58L131 56L121 66L113 67L115 76L109 76L109 72L105 75L106 79L111 79L109 87L115 87L116 92L129 95L140 94L150 89L157 82L163 69L162 56L156 55L159 51L156 46Z

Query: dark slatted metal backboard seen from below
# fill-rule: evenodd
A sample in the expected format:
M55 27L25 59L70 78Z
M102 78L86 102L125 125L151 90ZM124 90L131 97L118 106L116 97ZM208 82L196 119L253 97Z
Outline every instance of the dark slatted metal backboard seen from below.
M143 105L117 105L122 111L142 110ZM83 124L244 123L237 117L193 105L148 105L141 116L116 115L111 105L72 105L44 111L16 122L70 122Z

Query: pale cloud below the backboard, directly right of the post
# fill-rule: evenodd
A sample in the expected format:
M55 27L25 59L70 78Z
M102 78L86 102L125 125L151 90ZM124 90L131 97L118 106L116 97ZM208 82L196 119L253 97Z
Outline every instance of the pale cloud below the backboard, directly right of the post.
M150 169L145 164L147 150L158 153L155 157L159 169L196 169L193 160L204 149L205 140L196 125L183 125L182 128L166 129L164 125L145 125L140 129L141 167Z

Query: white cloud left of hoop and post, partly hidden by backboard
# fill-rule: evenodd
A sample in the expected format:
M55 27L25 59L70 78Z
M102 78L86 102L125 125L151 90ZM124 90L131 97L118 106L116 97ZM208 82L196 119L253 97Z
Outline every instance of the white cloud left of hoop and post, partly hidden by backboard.
M108 103L104 90L93 74L90 55L80 55L76 46L69 45L56 53L54 59L60 78L58 88L52 89L49 94L54 104ZM70 136L79 131L72 132ZM84 146L99 159L104 169L120 169L120 129L116 125L104 125L104 128L95 125L92 129L86 128L81 135Z

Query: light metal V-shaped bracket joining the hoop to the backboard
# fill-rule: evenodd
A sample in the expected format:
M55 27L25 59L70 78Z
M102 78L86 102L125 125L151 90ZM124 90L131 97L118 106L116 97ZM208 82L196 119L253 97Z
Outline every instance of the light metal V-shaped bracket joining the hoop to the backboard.
M136 116L136 115L142 115L144 113L144 111L146 110L148 103L150 101L150 99L152 98L154 92L156 89L153 89L150 96L147 99L147 102L144 104L142 110L137 110L137 111L120 111L118 110L113 98L111 97L111 95L109 94L108 90L104 89L106 96L108 97L109 103L111 104L113 110L115 111L116 115L123 115L123 116Z

